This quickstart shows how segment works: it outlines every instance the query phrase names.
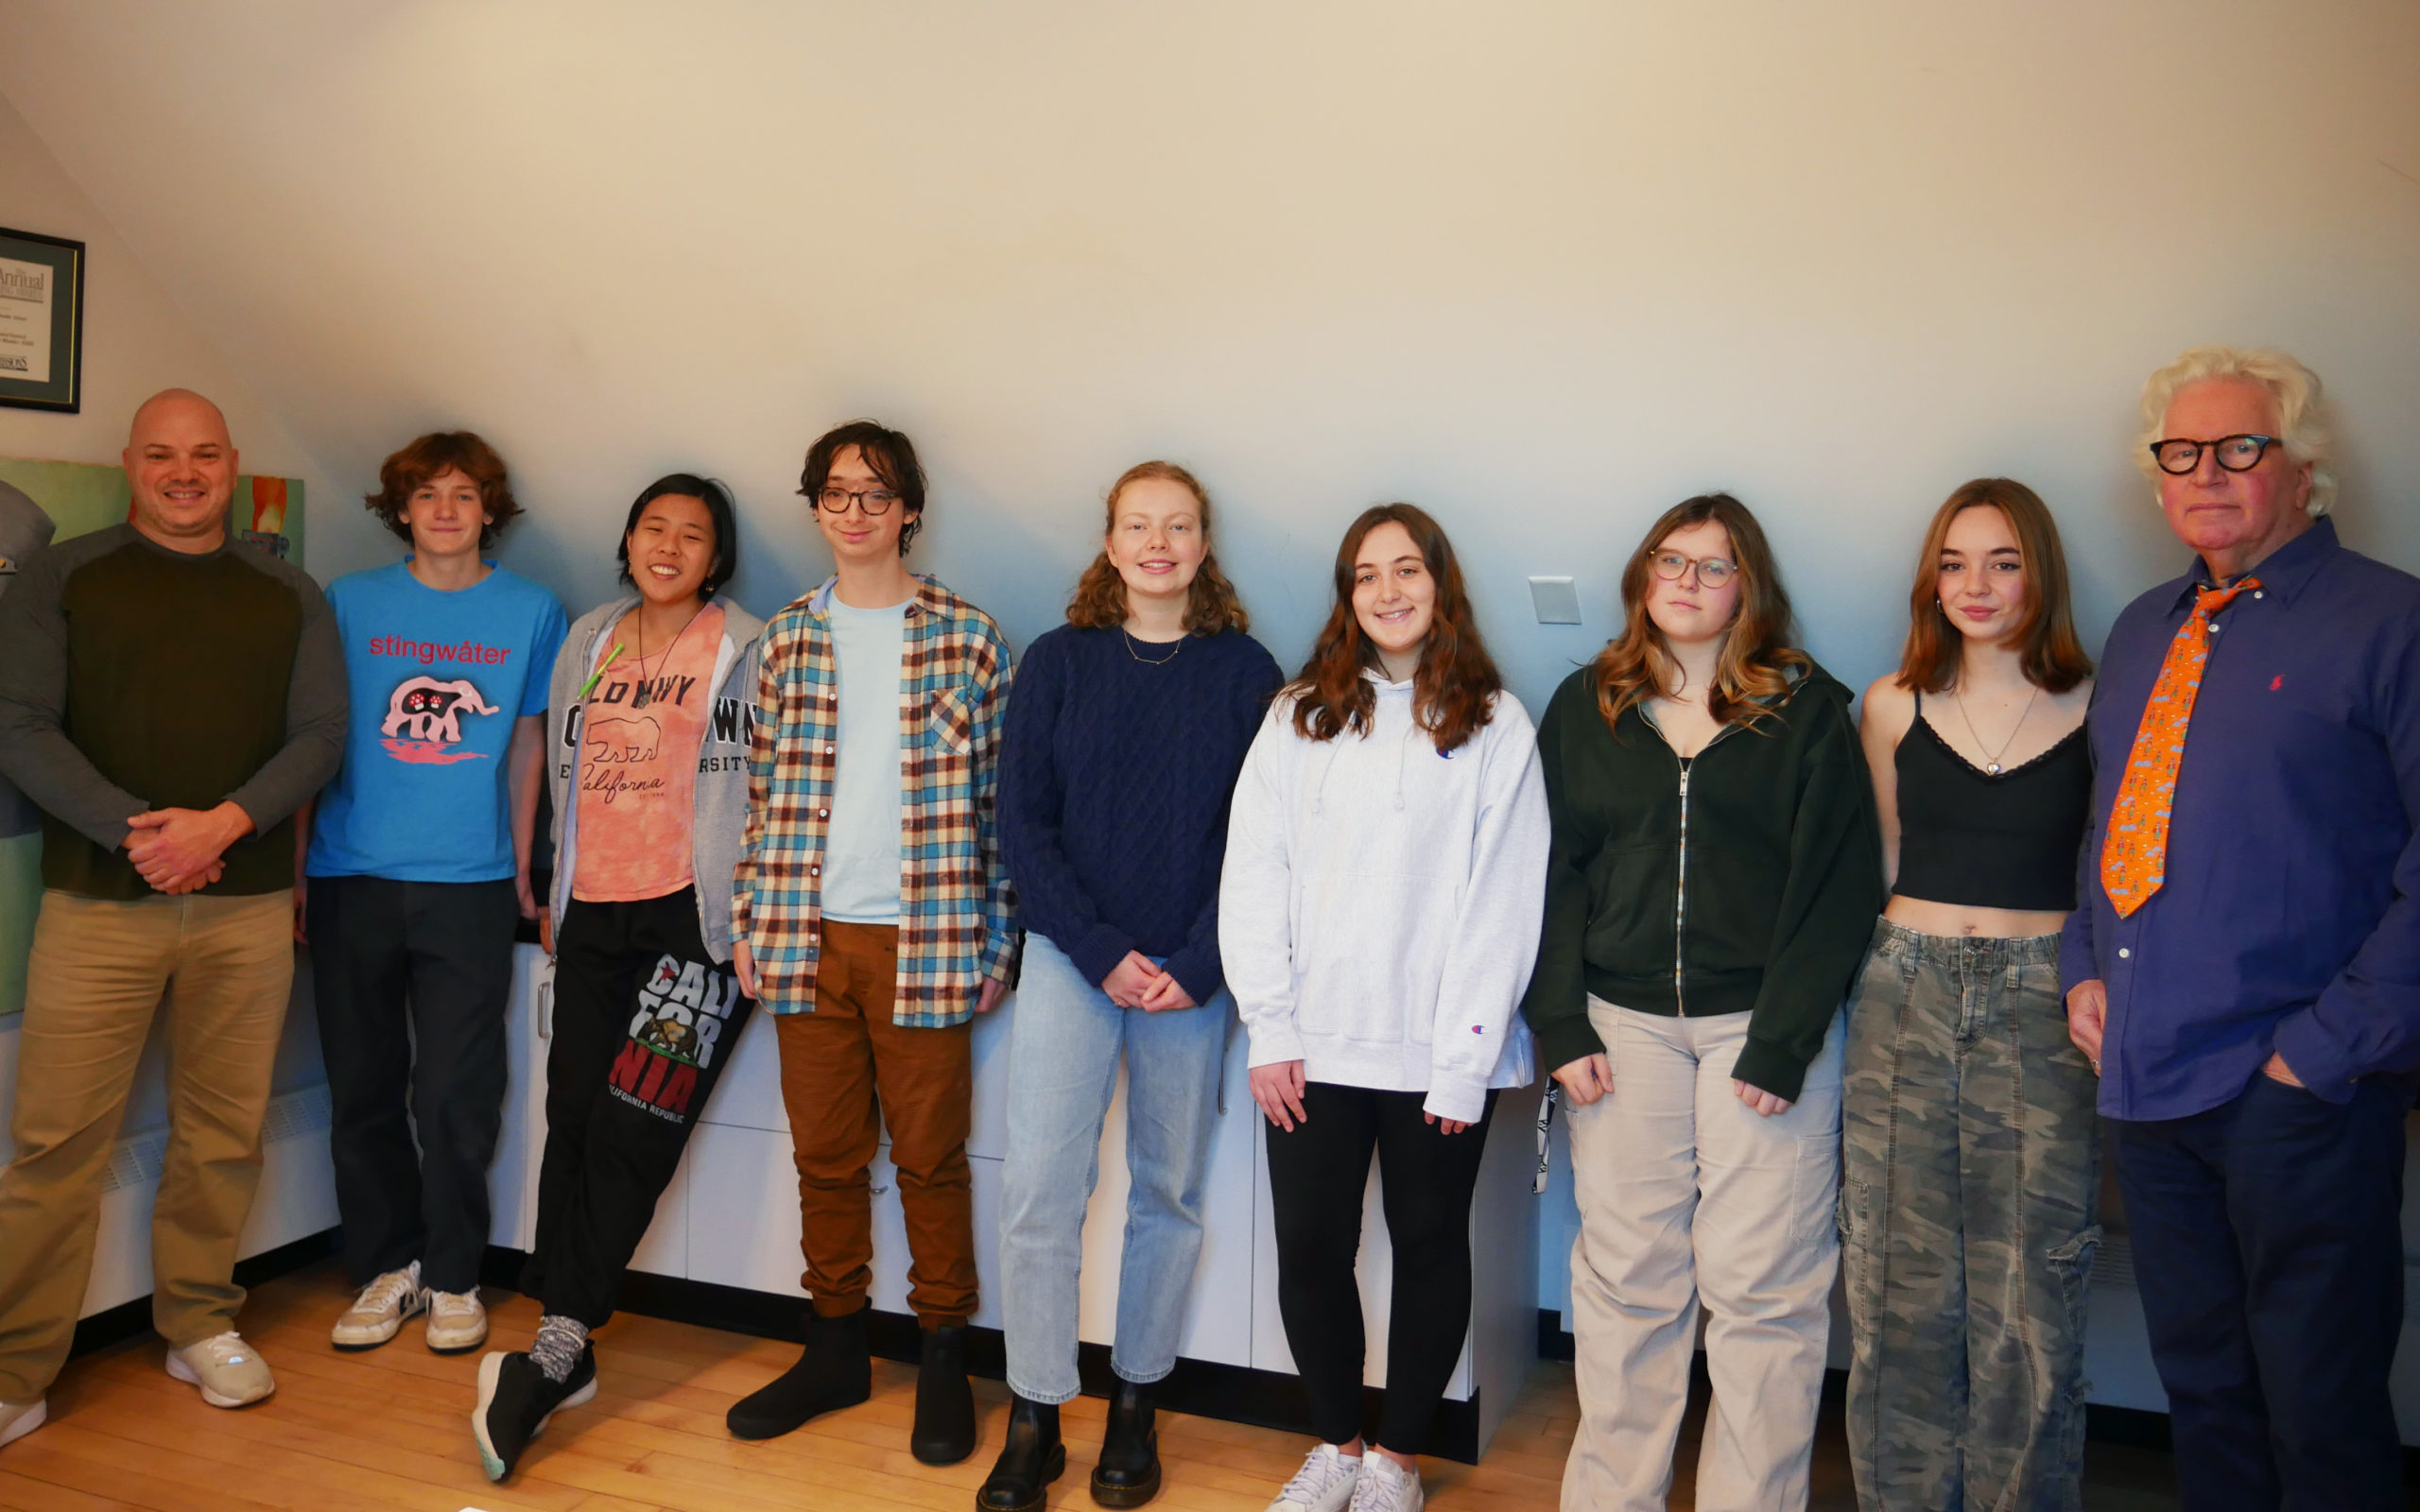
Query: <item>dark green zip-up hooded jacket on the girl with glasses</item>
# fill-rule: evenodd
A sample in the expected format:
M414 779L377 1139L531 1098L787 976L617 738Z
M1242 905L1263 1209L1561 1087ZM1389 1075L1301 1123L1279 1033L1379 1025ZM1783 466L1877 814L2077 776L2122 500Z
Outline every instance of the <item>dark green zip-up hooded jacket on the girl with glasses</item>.
M1745 1011L1733 1074L1796 1101L1883 907L1849 689L1815 668L1684 764L1636 706L1607 728L1580 668L1537 750L1554 854L1522 1014L1539 1057L1556 1069L1604 1050L1590 994L1641 1014Z

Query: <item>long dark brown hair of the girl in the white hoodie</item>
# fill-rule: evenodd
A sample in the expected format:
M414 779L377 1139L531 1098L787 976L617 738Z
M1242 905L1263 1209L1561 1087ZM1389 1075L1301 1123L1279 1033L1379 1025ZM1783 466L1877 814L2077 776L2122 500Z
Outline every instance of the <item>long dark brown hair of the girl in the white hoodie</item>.
M1437 740L1437 750L1447 752L1488 723L1505 680L1496 673L1486 641L1479 639L1479 619L1462 588L1462 564L1454 561L1452 542L1428 510L1411 503L1365 508L1336 547L1336 607L1329 610L1319 644L1312 646L1312 660L1302 663L1302 673L1285 689L1297 697L1295 733L1304 740L1333 740L1346 731L1370 733L1377 694L1362 673L1377 668L1379 658L1377 646L1362 634L1360 617L1353 614L1353 561L1362 539L1387 523L1411 535L1428 576L1437 581L1428 644L1421 646L1421 668L1411 675L1411 716Z

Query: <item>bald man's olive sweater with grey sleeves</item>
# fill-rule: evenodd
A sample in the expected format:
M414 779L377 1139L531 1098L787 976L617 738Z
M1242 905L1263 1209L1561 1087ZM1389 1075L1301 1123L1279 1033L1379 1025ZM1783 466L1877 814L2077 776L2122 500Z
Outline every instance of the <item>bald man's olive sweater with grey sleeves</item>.
M257 547L111 525L36 552L0 598L0 772L44 810L46 888L150 898L126 820L230 798L252 835L203 893L290 888L293 810L336 774L344 709L319 585Z

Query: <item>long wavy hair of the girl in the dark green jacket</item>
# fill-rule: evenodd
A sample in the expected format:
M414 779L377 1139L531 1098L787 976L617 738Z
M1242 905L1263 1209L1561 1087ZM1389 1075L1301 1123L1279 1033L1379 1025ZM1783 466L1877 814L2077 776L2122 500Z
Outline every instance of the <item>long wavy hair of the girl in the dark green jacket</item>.
M1771 714L1769 704L1788 692L1791 673L1808 673L1815 665L1791 644L1791 595L1781 588L1764 527L1730 494L1699 494L1667 508L1631 552L1631 564L1621 569L1621 634L1607 641L1590 665L1597 677L1597 711L1607 726L1631 704L1663 694L1677 680L1679 663L1648 617L1648 598L1655 590L1653 556L1675 530L1709 520L1730 535L1730 561L1740 569L1740 607L1723 631L1713 687L1706 689L1706 714L1716 723L1757 723Z

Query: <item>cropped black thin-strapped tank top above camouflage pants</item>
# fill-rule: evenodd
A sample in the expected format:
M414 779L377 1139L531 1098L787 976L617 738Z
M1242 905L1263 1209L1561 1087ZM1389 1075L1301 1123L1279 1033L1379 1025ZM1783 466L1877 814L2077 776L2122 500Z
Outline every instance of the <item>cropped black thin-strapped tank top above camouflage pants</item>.
M1999 777L1917 719L1892 752L1900 772L1897 898L2064 912L2076 905L2076 847L2093 798L2093 757L2076 726Z

